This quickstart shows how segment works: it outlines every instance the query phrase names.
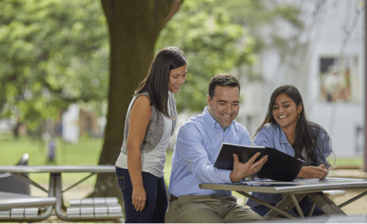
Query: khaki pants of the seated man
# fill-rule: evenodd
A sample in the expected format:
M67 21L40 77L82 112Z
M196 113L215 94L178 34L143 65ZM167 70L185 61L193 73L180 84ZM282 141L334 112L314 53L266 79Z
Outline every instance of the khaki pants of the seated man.
M169 203L165 223L246 223L263 220L236 196L183 195Z

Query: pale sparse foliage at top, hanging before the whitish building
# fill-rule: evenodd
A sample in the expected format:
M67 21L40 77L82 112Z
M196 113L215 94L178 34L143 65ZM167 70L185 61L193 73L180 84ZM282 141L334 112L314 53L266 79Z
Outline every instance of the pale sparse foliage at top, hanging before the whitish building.
M301 9L291 3L277 0L216 0L217 6L228 10L235 24L240 24L248 29L249 34L255 39L254 51L256 53L266 48L276 49L281 60L286 54L292 51L294 53L298 48L295 42L303 31L303 22L299 19ZM303 2L294 1L293 4L301 6ZM294 32L291 34L291 39L278 32L279 24L284 24L282 21L293 27Z

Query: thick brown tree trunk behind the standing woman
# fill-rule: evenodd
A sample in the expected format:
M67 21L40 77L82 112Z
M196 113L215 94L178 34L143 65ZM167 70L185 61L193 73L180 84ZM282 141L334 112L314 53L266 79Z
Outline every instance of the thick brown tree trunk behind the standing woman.
M114 165L124 141L126 112L154 58L154 45L183 0L101 0L109 24L109 110L99 165ZM89 197L121 197L114 173L99 174Z

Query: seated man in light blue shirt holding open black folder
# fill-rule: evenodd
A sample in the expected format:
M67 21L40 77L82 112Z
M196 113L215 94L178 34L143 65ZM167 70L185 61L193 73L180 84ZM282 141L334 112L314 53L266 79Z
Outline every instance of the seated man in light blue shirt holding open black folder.
M267 161L264 156L247 163L233 155L233 170L213 167L221 143L251 146L245 127L234 118L239 111L240 84L229 74L209 82L208 106L201 115L189 118L179 130L169 183L170 203L166 223L245 223L261 216L236 203L229 190L200 189L200 183L236 183L256 173Z

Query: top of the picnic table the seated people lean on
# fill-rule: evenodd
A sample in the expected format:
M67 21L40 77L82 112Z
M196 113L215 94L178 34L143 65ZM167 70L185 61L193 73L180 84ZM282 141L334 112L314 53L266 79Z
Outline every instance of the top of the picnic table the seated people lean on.
M1 169L0 169L1 170ZM326 178L319 183L304 185L247 185L246 182L234 184L201 183L199 188L214 190L253 191L261 193L313 193L322 190L348 190L367 188L367 179Z

